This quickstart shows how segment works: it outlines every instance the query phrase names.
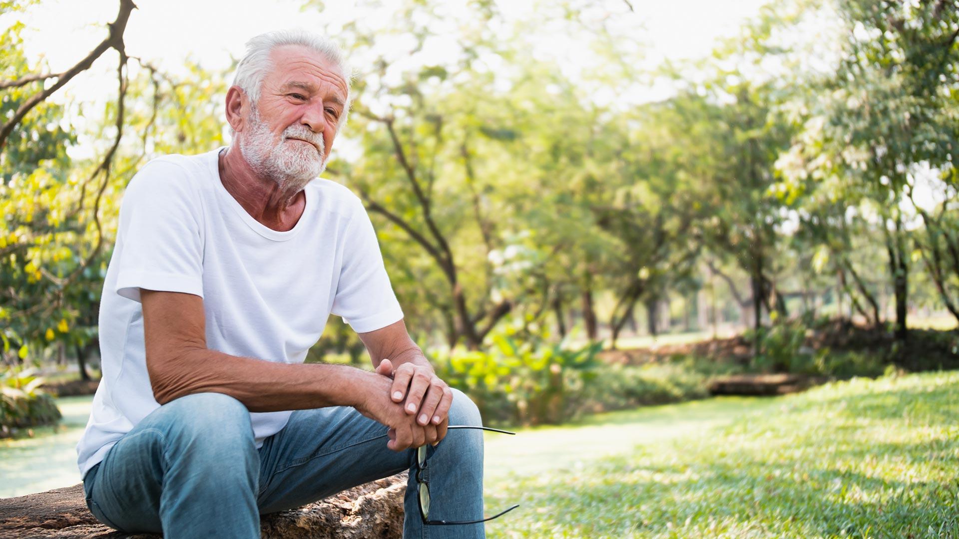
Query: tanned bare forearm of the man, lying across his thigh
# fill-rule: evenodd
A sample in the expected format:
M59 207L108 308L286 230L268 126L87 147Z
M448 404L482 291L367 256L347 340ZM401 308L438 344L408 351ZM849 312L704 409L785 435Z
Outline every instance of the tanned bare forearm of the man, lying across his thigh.
M195 349L148 370L161 405L193 393L223 393L250 411L305 410L360 404L369 377L361 369L332 364L272 363Z

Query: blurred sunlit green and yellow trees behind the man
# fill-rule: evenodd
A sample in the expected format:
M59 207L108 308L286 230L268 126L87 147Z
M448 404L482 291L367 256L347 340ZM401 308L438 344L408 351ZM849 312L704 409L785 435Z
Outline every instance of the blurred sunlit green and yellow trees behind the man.
M127 56L136 11L118 0L75 68L112 62L109 97L55 99L76 73L25 56L16 13L37 4L0 3L3 357L76 358L86 376L123 189L156 155L224 143L229 74ZM444 368L459 349L578 365L588 341L746 329L759 356L819 318L900 343L914 317L955 325L955 2L776 3L712 57L652 68L615 24L636 10L361 2L388 16L325 29L358 69L327 177L362 197L408 327ZM593 60L541 54L547 27ZM648 87L667 90L637 98ZM329 323L312 358L361 362ZM550 359L561 339L569 358ZM499 384L503 357L470 379Z

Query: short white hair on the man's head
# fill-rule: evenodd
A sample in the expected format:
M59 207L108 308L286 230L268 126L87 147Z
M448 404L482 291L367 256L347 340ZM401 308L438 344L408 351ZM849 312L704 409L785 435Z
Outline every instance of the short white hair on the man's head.
M350 109L353 72L343 58L343 52L336 43L328 38L306 30L275 30L253 37L246 41L246 55L237 64L237 72L233 77L233 84L240 86L249 97L250 105L254 108L260 101L260 91L263 89L263 80L269 70L273 68L270 54L273 49L284 45L300 45L332 61L339 68L346 81L346 104L343 113L337 121L337 131L346 124L346 116Z

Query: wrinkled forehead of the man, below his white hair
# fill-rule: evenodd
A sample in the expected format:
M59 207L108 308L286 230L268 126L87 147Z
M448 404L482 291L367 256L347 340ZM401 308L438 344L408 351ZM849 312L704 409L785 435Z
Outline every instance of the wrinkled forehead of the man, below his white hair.
M269 56L272 69L264 79L266 87L323 93L346 102L349 87L337 62L301 45L276 47Z

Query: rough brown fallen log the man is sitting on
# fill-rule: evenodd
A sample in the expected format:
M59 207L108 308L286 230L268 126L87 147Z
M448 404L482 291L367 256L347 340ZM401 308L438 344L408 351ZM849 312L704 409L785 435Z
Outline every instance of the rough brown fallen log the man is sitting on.
M263 515L264 539L360 539L403 536L403 496L407 474L340 492L314 504ZM18 498L0 499L0 539L92 537L155 539L128 535L100 524L83 501L83 485L75 484Z

